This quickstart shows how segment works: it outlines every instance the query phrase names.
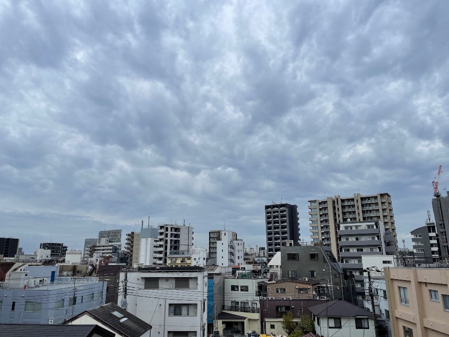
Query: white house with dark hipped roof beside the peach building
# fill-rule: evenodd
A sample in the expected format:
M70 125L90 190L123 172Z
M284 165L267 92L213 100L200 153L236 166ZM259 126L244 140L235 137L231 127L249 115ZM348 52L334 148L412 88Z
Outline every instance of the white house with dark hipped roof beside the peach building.
M375 337L373 313L352 303L335 300L309 307L320 336Z

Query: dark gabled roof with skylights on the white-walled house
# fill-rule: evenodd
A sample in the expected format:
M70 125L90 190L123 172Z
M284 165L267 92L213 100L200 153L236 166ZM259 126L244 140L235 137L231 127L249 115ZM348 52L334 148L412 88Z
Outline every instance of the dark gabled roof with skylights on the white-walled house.
M114 316L112 314L114 312L119 313L122 317L118 318ZM87 310L66 321L64 324L70 324L83 315L88 315L93 319L98 320L102 324L110 327L117 333L123 334L123 336L127 337L140 337L152 328L152 326L148 323L142 321L140 318L120 308L114 303L108 303L104 306ZM126 320L124 320L125 318Z

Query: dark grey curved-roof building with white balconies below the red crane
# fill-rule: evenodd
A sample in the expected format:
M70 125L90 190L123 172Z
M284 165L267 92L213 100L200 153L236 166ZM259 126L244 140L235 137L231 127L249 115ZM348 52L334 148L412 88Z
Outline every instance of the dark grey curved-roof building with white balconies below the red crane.
M442 249L440 245L437 225L428 222L426 226L419 227L410 232L415 257L438 259Z

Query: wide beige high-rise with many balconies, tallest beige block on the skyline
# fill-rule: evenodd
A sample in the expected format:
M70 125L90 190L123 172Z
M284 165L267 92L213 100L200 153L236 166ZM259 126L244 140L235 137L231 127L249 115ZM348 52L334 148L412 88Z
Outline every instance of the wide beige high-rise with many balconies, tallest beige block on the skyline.
M338 257L337 224L351 221L381 221L385 231L396 239L395 218L391 196L388 193L354 194L352 197L328 197L309 200L310 237L332 247Z

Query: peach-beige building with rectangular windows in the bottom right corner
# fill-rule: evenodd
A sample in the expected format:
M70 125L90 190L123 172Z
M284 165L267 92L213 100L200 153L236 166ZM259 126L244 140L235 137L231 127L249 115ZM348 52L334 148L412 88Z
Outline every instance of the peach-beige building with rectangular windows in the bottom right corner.
M449 336L449 268L385 271L391 336Z

